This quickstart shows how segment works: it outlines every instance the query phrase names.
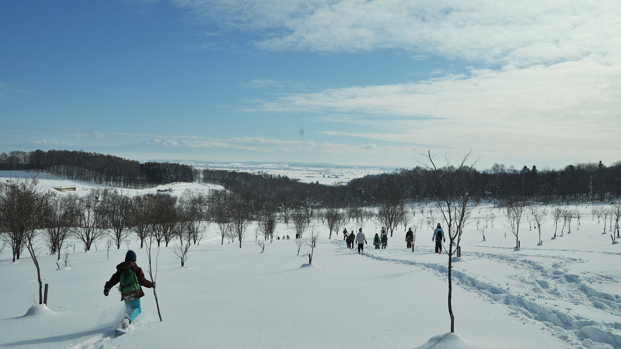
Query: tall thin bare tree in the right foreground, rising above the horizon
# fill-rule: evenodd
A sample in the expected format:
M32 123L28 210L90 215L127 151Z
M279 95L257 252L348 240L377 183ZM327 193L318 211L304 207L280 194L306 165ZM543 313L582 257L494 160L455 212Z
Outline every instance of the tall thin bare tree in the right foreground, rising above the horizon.
M451 166L448 156L445 156L446 166L442 169L435 165L431 152L427 152L429 170L433 170L438 182L435 191L435 201L440 215L445 222L450 239L448 251L448 314L451 319L451 332L455 332L455 315L453 314L453 254L458 250L461 242L461 230L466 223L469 211L473 209L473 195L476 188L474 165L466 165L471 152L466 153L456 168ZM455 250L453 243L455 242Z

